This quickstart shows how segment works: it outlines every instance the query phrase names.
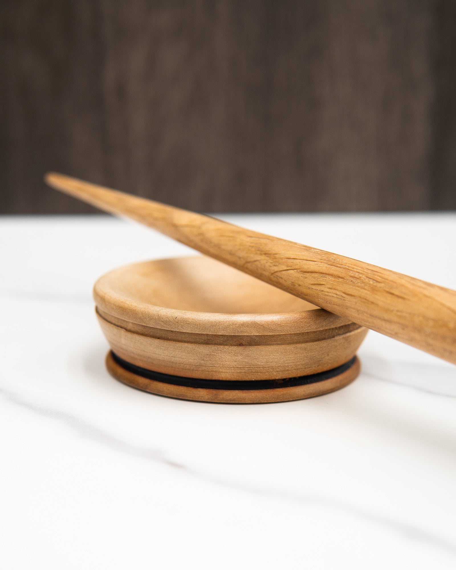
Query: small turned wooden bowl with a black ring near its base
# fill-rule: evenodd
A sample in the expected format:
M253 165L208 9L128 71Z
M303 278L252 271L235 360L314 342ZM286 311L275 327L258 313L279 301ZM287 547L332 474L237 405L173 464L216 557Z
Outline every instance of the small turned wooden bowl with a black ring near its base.
M95 284L109 372L148 392L209 402L298 400L359 373L367 329L214 259L121 267Z

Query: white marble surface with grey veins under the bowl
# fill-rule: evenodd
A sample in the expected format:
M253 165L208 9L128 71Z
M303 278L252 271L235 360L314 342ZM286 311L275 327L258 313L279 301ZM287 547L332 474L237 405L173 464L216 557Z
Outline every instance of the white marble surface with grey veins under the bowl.
M456 288L455 214L225 218ZM370 332L327 396L153 396L105 372L92 284L190 250L107 217L0 243L2 568L456 568L454 366Z

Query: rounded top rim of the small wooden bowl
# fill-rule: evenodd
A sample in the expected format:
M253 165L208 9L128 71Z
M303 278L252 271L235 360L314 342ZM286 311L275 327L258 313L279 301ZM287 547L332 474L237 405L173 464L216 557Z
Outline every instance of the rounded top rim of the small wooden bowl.
M169 331L225 335L277 335L341 327L352 321L321 308L283 313L213 313L186 311L137 302L116 292L109 279L119 271L168 259L198 259L201 255L150 259L117 267L101 275L93 286L96 306L108 315Z

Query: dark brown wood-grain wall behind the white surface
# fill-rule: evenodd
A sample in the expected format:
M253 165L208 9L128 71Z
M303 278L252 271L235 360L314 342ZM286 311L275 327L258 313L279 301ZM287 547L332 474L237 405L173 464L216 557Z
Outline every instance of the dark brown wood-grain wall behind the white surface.
M0 211L456 208L454 0L2 0Z

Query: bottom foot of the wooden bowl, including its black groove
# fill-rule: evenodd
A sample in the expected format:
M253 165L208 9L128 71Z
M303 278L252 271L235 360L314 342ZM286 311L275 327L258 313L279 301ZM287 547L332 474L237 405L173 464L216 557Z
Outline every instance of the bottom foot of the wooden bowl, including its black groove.
M124 384L160 396L220 404L266 404L302 400L339 390L358 376L360 361L354 356L337 368L282 380L202 380L140 368L109 351L106 368Z

